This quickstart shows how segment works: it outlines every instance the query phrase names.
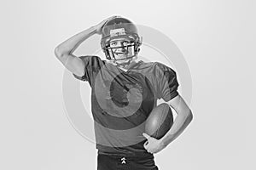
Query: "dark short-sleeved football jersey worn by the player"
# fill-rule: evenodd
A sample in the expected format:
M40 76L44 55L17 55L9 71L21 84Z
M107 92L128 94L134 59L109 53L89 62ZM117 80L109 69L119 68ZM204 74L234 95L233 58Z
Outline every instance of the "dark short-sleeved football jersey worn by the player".
M128 71L97 56L81 56L84 76L91 87L96 149L105 154L147 152L144 123L157 99L177 96L175 71L159 62L133 63Z

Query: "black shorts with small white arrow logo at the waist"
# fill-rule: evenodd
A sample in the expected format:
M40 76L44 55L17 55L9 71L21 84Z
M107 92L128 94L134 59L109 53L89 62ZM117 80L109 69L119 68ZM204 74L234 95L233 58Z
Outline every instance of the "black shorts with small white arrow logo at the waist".
M140 156L97 155L97 170L158 170L152 154Z

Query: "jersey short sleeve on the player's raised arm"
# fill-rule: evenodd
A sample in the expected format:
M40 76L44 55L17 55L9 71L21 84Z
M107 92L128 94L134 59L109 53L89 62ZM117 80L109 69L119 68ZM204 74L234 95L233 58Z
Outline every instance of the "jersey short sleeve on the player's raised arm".
M84 76L73 76L81 81L91 82L93 74L101 69L102 59L97 56L80 56L79 59L84 62Z

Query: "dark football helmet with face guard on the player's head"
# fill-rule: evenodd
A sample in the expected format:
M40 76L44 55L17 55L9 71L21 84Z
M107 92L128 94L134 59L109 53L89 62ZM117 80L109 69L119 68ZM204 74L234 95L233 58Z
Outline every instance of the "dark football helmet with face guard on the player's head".
M114 40L124 39L125 45L119 47L111 47L110 42ZM101 46L106 58L113 61L116 65L129 65L132 59L137 57L142 44L142 37L138 36L137 27L130 21L122 17L108 20L102 27ZM117 57L115 49L123 48L125 53L122 57Z

